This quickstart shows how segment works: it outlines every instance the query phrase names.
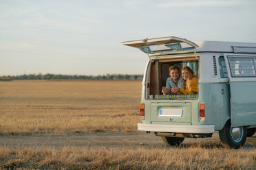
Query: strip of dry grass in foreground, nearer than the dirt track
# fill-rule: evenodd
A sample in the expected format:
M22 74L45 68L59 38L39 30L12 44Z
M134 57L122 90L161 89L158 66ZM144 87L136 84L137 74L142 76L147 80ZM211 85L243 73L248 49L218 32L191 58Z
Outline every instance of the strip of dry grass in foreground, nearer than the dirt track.
M255 150L223 148L0 148L3 169L256 169L255 160Z

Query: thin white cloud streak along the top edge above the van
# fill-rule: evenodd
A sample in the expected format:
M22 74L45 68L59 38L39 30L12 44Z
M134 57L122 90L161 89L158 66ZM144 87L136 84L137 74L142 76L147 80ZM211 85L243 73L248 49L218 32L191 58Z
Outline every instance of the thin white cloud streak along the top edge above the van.
M167 7L206 7L206 6L239 6L246 5L248 1L183 1L159 4L159 8Z

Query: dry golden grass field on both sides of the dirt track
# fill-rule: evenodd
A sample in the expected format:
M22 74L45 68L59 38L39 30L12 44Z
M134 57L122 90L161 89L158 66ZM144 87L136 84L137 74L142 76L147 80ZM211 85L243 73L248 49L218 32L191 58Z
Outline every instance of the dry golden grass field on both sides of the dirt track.
M0 135L52 138L90 132L105 140L104 134L112 132L137 134L140 93L140 80L0 82ZM2 145L0 169L256 169L255 137L248 143L252 147L237 150L212 143L58 149Z

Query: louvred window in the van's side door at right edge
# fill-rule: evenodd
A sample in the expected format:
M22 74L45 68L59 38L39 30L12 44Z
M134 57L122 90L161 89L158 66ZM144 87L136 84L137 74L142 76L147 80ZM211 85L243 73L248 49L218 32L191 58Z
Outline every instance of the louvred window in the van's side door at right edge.
M228 56L232 77L255 76L256 57Z

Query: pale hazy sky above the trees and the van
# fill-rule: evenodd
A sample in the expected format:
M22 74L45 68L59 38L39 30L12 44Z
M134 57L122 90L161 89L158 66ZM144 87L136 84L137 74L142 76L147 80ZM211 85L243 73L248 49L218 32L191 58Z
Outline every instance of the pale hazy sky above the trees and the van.
M0 75L142 74L122 41L256 42L255 0L0 0Z

